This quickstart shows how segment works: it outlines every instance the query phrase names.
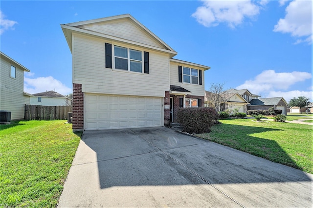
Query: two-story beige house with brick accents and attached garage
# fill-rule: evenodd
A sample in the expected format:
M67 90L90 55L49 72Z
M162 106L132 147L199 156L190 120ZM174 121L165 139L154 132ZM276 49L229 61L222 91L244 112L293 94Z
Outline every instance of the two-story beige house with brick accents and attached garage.
M61 25L73 58L73 131L168 126L204 106L208 66L177 55L131 15Z

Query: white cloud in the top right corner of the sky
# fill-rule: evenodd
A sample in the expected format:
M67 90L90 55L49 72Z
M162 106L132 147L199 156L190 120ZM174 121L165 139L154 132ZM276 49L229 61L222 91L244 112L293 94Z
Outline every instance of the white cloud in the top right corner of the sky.
M312 44L312 1L294 0L286 8L286 16L279 19L274 26L274 32L291 33L298 39L296 43Z

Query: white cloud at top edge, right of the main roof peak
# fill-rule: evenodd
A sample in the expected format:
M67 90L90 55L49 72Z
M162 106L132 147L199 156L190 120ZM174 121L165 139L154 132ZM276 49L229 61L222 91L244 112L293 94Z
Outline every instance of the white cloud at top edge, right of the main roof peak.
M203 5L198 7L192 17L205 27L214 27L225 22L229 27L243 23L245 18L253 18L259 14L260 6L250 0L202 0ZM260 5L268 3L267 0L258 1Z

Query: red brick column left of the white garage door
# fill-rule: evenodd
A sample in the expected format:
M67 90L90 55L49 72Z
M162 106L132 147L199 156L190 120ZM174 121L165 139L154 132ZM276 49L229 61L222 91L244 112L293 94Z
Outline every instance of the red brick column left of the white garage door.
M84 93L82 84L73 83L73 132L84 131Z

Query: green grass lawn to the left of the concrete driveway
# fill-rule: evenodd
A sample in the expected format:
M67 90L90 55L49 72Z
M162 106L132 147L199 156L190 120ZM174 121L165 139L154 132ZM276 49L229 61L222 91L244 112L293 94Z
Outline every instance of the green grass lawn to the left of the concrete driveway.
M64 120L0 125L0 207L56 207L80 136Z

